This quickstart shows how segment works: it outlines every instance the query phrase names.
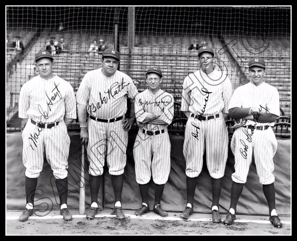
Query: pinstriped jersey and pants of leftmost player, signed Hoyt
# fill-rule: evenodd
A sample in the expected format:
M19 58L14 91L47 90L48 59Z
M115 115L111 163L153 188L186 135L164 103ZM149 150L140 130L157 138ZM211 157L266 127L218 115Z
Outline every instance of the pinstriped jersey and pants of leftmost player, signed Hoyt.
M57 75L49 80L39 75L33 77L21 88L18 116L28 119L22 132L26 177L39 177L45 150L53 176L66 178L70 138L64 118L76 119L76 101L71 85ZM50 123L56 124L47 128Z

